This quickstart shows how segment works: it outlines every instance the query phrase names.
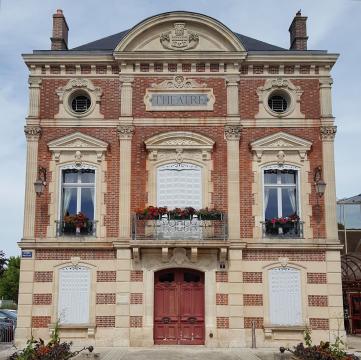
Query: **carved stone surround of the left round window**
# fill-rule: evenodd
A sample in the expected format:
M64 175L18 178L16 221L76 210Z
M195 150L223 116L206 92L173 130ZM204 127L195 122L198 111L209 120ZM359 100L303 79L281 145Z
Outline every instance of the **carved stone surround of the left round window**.
M86 92L91 100L89 109L82 113L74 112L70 104L72 95L79 90ZM56 93L59 96L59 112L55 115L55 118L84 118L90 116L92 118L104 118L100 114L102 90L95 87L89 79L72 79L65 86L59 87Z

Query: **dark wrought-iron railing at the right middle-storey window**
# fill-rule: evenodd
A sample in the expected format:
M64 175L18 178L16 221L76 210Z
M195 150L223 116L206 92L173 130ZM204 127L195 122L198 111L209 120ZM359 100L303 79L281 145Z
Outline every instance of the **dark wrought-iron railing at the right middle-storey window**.
M286 223L272 223L263 221L263 238L303 238L303 221L288 221Z

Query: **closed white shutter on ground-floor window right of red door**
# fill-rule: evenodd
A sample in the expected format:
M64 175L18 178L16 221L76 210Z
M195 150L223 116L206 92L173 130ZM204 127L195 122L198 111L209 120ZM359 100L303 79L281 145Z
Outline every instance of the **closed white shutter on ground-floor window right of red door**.
M270 323L300 325L302 323L301 274L284 267L269 270Z

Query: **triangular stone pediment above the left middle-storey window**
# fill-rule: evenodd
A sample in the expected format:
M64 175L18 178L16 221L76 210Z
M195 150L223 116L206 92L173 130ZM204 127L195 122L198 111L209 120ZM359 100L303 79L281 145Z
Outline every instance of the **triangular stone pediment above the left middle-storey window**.
M48 143L50 151L96 151L105 152L108 143L81 132L75 132Z

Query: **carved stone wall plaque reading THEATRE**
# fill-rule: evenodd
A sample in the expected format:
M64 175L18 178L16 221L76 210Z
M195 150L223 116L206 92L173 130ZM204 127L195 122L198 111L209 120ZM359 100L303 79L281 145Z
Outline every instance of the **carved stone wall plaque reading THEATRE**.
M176 76L146 90L144 103L147 111L212 111L213 89L195 80Z

